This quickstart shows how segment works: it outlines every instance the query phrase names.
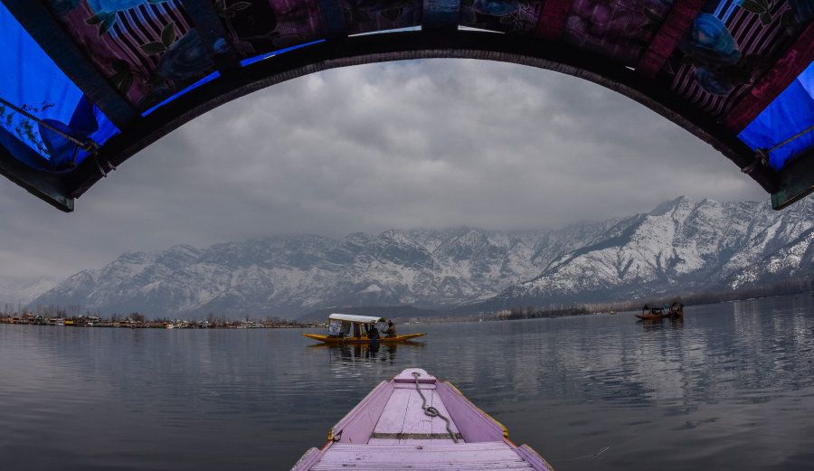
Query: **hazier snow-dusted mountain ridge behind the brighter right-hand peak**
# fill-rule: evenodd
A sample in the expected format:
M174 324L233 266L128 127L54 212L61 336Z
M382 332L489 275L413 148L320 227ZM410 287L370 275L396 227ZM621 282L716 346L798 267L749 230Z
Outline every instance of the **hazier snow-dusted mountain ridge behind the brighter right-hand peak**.
M326 306L455 306L532 278L615 221L563 231L383 231L128 252L33 304L149 316L298 316Z

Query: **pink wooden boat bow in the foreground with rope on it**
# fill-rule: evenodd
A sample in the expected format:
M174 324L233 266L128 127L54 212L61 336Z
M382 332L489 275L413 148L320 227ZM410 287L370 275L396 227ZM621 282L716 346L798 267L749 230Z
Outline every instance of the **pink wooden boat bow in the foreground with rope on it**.
M531 447L512 443L503 425L450 382L408 368L376 386L292 471L340 469L554 468Z

